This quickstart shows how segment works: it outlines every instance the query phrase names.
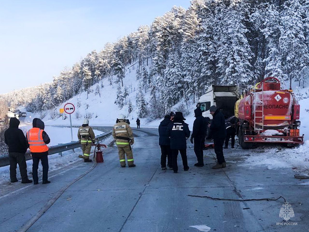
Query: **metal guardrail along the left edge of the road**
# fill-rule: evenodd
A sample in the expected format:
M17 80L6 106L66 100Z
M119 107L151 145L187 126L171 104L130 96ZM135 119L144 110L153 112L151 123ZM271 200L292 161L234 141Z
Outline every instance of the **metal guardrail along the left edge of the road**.
M73 126L73 127L77 127L77 126ZM103 127L92 127L95 130L100 130L100 131L104 131ZM112 135L112 132L108 132L106 134L102 134L102 135L98 135L95 137L95 142L104 140L105 138L107 138L108 136ZM81 146L81 144L78 141L74 141L74 142L70 142L70 143L66 143L66 144L58 144L58 145L54 145L54 146L50 146L49 150L48 150L48 154L49 155L53 155L56 153L59 153L62 156L62 152L64 151L69 151L69 150L73 150L74 148L79 148ZM25 154L26 160L31 160L32 157L30 156L30 151L27 151ZM9 161L9 156L1 156L0 157L0 167L3 166L7 166L10 165L10 161Z

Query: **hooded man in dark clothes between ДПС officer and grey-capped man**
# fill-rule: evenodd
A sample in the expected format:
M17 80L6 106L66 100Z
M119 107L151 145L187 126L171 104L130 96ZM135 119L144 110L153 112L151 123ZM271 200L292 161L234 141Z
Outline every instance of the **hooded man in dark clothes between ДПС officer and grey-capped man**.
M194 139L194 152L197 157L197 163L194 166L203 167L203 149L205 148L205 135L206 135L206 119L202 116L202 110L197 107L194 110L195 120L193 123L193 131L191 135L191 143L193 144Z

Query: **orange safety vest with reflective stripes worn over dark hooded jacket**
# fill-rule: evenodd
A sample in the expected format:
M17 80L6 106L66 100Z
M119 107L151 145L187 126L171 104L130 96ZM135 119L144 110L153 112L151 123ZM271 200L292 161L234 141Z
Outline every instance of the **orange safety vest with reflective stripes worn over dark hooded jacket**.
M37 127L33 127L28 131L27 138L30 152L40 153L48 151L48 146L44 143L43 140L43 131L44 130Z

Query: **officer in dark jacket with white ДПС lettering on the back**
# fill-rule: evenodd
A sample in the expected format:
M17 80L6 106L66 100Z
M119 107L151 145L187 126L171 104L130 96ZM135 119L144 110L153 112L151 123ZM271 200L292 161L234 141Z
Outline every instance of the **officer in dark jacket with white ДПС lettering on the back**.
M186 120L182 115L182 112L176 112L174 121L167 127L167 135L171 138L171 150L173 160L174 173L178 172L177 156L178 151L180 152L182 164L184 170L188 171L188 160L187 160L187 139L190 137L190 130L188 124L184 122Z

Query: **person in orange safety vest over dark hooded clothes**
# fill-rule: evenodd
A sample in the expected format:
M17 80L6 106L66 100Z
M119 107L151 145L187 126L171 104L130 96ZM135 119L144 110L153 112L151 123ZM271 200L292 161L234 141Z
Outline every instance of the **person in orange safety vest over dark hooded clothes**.
M39 183L38 168L41 161L43 167L42 184L49 184L48 180L48 146L50 143L48 134L44 131L45 125L40 118L33 118L32 128L27 132L26 140L32 155L33 184Z

